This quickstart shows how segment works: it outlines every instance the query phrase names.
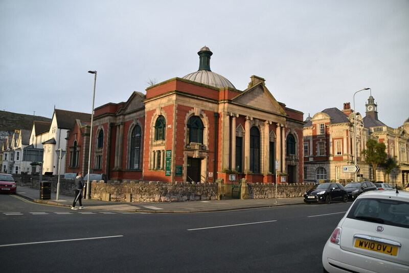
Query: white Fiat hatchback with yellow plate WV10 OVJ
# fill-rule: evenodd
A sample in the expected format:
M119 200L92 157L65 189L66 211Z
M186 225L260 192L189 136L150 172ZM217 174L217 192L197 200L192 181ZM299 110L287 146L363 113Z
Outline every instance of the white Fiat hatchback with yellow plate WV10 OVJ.
M409 192L359 195L324 246L324 272L409 272Z

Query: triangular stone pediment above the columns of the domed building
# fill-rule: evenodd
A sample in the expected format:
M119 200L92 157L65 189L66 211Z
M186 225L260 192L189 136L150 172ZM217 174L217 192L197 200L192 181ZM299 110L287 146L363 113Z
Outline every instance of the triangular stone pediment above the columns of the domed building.
M254 82L255 78L259 80L257 83ZM254 75L249 87L232 99L232 102L287 116L285 110L265 86L264 79Z

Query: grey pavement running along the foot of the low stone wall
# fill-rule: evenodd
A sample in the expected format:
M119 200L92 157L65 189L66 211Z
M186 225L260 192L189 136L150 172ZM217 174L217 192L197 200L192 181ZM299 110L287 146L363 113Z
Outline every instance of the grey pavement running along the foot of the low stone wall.
M37 203L51 204L70 209L74 196L51 193L51 199L40 199L40 191L25 186L17 186L17 195ZM277 201L277 202L276 202ZM264 199L226 199L226 200L202 200L202 201L174 201L174 202L116 202L82 199L82 206L91 210L121 211L121 212L144 212L144 213L199 213L218 212L256 208L269 208L288 206L291 204L304 203L303 197L293 198L264 198ZM79 206L77 202L77 207Z

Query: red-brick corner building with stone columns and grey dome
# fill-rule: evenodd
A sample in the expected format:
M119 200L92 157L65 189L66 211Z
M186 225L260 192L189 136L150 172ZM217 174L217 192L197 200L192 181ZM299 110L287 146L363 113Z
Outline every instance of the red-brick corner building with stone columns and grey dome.
M210 70L213 53L198 52L199 70L134 92L127 102L95 109L94 173L111 180L303 181L303 113L286 107L252 76L238 90Z

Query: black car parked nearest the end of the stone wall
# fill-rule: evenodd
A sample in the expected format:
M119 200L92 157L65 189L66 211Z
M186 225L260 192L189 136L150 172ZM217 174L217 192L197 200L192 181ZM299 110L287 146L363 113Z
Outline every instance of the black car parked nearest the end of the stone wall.
M325 202L348 201L348 193L344 186L339 183L321 183L304 193L304 202Z

